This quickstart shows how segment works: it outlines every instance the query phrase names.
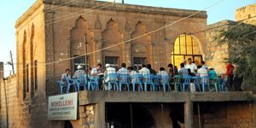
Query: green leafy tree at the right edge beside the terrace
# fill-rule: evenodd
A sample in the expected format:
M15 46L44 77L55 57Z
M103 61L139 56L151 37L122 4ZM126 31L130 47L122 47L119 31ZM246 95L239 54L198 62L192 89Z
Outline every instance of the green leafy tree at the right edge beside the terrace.
M235 65L235 74L243 78L243 84L256 85L256 26L236 22L215 39L229 45L227 61Z

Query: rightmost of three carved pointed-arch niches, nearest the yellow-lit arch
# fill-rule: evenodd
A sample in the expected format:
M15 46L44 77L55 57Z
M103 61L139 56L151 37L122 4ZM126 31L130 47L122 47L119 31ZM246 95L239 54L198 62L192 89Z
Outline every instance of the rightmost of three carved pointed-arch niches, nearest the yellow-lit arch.
M131 38L137 38L147 33L147 27L141 21L138 21L135 31L131 33ZM149 34L131 42L131 61L133 65L137 64L135 58L145 58L145 62L152 64L152 44Z

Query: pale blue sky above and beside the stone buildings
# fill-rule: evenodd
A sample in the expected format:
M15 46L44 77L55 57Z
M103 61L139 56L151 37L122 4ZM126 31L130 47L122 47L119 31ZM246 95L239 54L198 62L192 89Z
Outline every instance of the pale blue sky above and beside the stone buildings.
M0 5L0 61L5 64L10 61L9 51L12 50L16 61L15 21L26 12L36 0L3 0ZM113 1L113 0L102 0ZM116 0L120 2L121 0ZM125 3L147 5L154 7L175 9L205 9L219 0L125 0ZM256 3L256 0L223 0L221 3L207 9L207 24L220 20L235 20L235 11L248 4ZM7 77L11 67L4 65L4 75Z

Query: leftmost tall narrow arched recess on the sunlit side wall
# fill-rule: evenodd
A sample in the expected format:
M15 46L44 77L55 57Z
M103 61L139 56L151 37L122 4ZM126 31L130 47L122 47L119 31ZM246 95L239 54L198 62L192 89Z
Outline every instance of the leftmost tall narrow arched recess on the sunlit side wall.
M22 85L23 85L23 98L26 98L26 30L23 32L22 42Z

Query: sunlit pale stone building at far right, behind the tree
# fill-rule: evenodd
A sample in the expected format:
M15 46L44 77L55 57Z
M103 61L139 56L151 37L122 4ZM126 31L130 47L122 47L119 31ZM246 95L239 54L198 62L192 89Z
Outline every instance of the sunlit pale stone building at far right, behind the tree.
M236 21L222 20L207 26L207 50L205 60L207 65L214 67L219 74L224 74L226 67L225 61L229 57L228 44L218 44L215 37L232 27L240 26L241 23L255 26L256 25L256 4L247 5L240 9L236 9Z

